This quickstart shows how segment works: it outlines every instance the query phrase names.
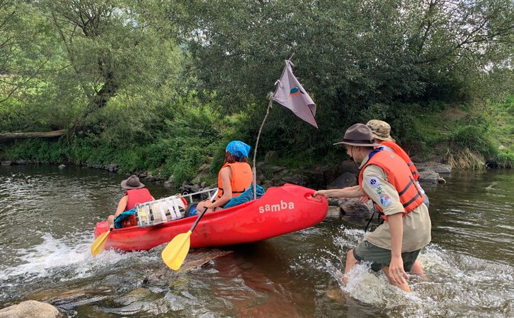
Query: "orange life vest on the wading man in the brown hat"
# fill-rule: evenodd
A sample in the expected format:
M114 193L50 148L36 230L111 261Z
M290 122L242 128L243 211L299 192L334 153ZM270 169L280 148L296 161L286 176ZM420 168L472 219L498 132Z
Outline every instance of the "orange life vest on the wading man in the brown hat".
M419 189L411 171L400 156L397 156L388 150L379 150L377 153L372 155L360 170L360 174L358 176L358 185L360 189L363 189L363 191L363 175L364 170L368 165L378 165L378 167L384 170L387 175L387 181L395 187L396 191L398 191L400 202L402 202L404 207L403 216L407 215L423 203L425 195L421 192L421 189ZM380 206L378 206L378 204L375 204L375 206L378 211L380 211L384 220L387 221L387 215L382 213L383 211Z

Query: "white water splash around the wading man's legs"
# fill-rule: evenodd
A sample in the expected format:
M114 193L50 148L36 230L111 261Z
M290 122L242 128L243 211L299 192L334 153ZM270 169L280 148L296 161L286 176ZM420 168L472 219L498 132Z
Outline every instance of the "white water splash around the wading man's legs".
M430 244L419 254L427 280L409 275L412 293L389 284L382 271L369 264L356 265L343 284L347 250L363 238L362 230L341 227L332 237L340 252L318 250L321 257L303 255L292 267L312 266L326 271L341 291L354 299L380 308L388 317L514 317L514 267L444 250Z

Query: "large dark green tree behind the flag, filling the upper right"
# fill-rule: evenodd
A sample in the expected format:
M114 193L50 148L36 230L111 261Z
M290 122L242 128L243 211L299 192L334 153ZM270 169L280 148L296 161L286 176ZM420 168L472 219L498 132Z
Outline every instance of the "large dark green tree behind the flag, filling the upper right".
M308 138L328 146L370 107L471 94L469 79L489 78L487 68L513 55L508 0L213 0L173 8L185 12L169 18L184 27L191 75L218 92L228 113L263 109L283 60L295 53L295 74L326 123L313 140L310 129L272 116L270 127L295 145Z

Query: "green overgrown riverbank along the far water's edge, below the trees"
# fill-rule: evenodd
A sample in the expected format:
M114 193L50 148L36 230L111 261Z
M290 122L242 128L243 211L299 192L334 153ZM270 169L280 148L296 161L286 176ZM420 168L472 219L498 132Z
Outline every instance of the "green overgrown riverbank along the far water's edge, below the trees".
M172 104L169 108L176 110L184 105ZM243 115L221 116L208 107L190 105L180 109L170 111L174 124L160 127L153 137L149 136L152 130L143 139L137 133L127 136L119 131L123 123L115 122L97 135L80 135L71 140L60 137L4 142L0 159L4 164L73 164L121 174L136 173L173 188L212 185L226 142L254 140L249 136L254 135L255 124L249 125ZM384 110L387 109L393 111ZM502 103L433 102L401 109L393 111L393 119L386 120L391 123L391 135L414 161L445 163L453 169L512 168L514 96ZM273 179L280 176L284 182L326 187L339 176L337 165L347 159L341 147L306 148L284 138L273 136L271 127L265 129L258 149L258 168L271 165L271 169L260 169L262 183L270 181L269 185L274 185ZM131 146L126 148L123 144ZM319 175L313 176L316 174Z

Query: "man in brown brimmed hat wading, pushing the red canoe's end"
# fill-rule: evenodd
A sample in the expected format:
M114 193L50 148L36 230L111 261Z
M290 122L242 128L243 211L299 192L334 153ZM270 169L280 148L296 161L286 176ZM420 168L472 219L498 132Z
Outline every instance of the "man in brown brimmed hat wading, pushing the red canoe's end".
M359 188L319 190L315 195L356 198L366 194L383 213L385 221L347 252L345 277L359 262L371 262L374 271L384 270L389 282L411 291L405 271L411 271L419 250L430 242L430 216L424 194L405 161L374 143L365 124L347 129L342 142L347 154L360 165Z

